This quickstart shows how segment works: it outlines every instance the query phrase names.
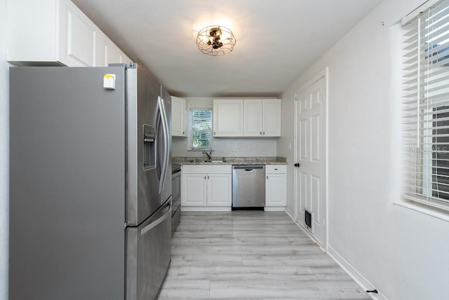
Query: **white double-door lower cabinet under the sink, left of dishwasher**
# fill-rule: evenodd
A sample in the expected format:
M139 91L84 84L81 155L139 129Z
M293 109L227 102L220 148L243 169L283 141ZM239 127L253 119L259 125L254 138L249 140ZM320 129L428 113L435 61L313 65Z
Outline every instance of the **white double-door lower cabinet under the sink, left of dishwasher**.
M184 165L183 210L231 210L231 165Z

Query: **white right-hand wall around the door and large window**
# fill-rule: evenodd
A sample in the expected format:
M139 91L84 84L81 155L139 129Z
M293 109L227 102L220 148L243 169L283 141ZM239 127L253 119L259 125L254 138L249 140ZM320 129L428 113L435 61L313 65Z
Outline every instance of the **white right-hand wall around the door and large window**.
M330 253L387 299L447 299L449 222L394 205L399 198L399 57L391 26L424 0L385 0L282 95L279 156L293 161L297 88L325 67ZM286 116L290 116L286 118ZM289 165L288 210L293 212Z

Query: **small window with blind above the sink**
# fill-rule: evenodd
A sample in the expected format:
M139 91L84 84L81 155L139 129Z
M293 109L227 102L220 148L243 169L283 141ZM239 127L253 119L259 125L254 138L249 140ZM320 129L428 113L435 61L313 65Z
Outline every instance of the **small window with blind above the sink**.
M190 149L212 148L212 110L190 109Z

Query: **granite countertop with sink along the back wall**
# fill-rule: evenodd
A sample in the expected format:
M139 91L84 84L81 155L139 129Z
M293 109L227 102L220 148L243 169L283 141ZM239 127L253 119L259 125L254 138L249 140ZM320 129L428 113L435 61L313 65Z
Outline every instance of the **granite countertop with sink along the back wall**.
M287 158L279 156L269 157L213 157L207 161L206 157L173 157L172 163L180 165L286 165Z

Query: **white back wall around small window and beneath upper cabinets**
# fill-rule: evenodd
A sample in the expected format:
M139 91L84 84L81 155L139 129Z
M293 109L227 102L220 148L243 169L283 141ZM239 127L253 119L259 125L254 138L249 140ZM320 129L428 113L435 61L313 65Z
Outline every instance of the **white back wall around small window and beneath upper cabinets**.
M213 98L209 97L189 97L185 98L186 107L189 108L212 108ZM215 157L248 157L248 156L276 156L276 138L215 138L212 141L213 153ZM174 137L172 146L172 156L204 156L202 151L187 151L189 140L187 137Z

